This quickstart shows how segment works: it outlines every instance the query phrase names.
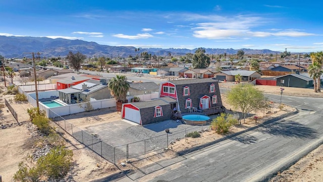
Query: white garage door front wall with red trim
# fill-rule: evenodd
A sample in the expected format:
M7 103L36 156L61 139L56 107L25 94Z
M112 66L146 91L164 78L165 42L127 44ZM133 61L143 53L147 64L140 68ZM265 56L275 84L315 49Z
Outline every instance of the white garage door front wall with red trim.
M132 104L122 105L121 116L122 118L142 125L139 108Z

